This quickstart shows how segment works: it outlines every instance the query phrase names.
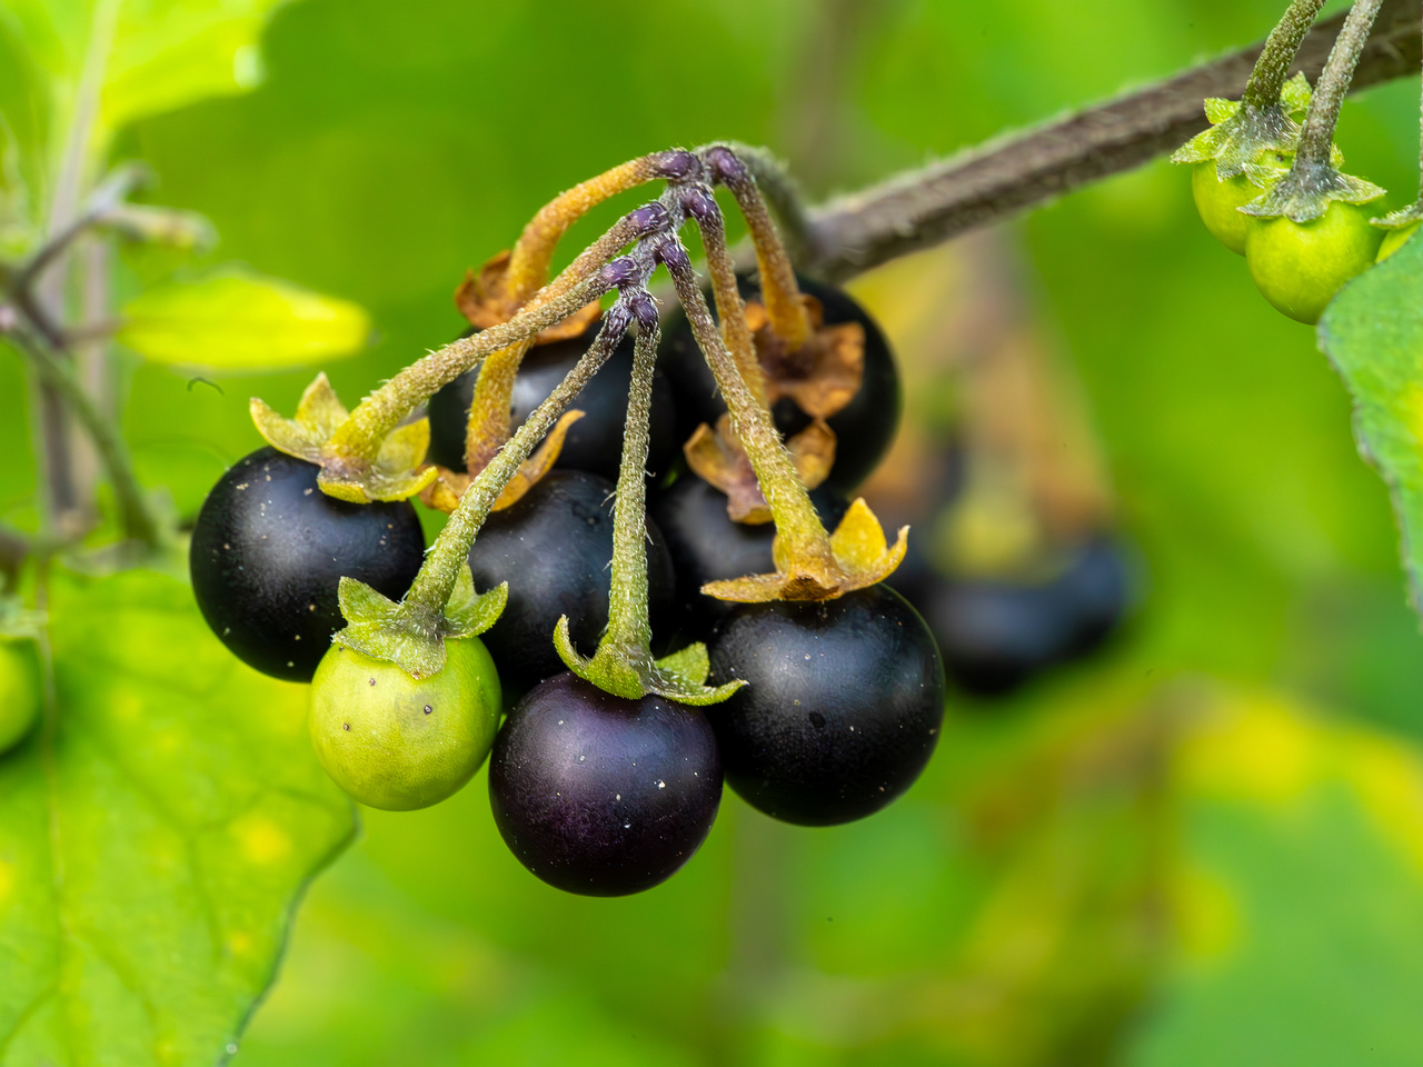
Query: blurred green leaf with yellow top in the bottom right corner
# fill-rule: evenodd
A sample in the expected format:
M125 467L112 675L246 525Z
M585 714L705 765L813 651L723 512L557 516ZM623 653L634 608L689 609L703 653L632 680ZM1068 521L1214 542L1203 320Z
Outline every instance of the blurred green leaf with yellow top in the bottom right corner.
M1134 1067L1423 1061L1423 761L1275 696L1174 758L1180 952Z

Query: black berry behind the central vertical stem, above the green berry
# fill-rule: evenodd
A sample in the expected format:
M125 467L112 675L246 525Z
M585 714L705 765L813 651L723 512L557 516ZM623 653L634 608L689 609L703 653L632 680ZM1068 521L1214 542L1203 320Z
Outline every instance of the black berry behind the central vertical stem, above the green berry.
M675 575L656 524L647 524L647 600L656 633L667 625ZM509 583L509 602L484 635L512 701L566 670L554 627L591 656L608 625L612 592L613 484L585 471L549 471L511 508L490 515L470 549L477 589Z

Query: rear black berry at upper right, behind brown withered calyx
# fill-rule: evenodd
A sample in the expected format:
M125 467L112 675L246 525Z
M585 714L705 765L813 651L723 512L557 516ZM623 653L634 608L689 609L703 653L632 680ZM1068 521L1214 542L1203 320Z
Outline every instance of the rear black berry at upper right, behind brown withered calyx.
M899 427L899 371L884 333L848 293L800 275L795 280L801 292L820 300L827 326L855 322L865 331L865 368L859 393L825 420L835 431L835 465L827 484L850 494L879 465ZM758 282L741 277L739 285L744 300L760 299ZM677 400L677 437L686 441L700 423L716 425L726 404L721 403L712 371L680 309L667 323L662 357ZM785 435L797 434L810 424L810 417L788 397L776 403L774 415L776 427Z

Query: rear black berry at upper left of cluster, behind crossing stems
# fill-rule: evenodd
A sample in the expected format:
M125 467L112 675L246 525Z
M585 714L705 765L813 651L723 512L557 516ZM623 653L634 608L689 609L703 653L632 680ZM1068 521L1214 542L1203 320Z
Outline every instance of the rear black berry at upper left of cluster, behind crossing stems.
M509 428L524 424L549 393L568 376L598 336L595 323L579 337L535 344L519 364L509 397ZM632 384L633 337L628 334L608 357L593 380L569 405L583 413L564 438L555 469L589 471L618 479L622 461L623 425L628 421L628 390ZM430 397L430 462L464 469L464 438L470 425L470 401L478 370L467 371ZM666 474L677 455L676 415L672 384L659 371L652 384L652 417L647 425L647 474Z

